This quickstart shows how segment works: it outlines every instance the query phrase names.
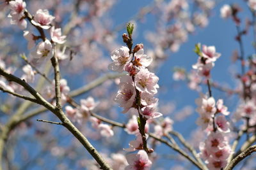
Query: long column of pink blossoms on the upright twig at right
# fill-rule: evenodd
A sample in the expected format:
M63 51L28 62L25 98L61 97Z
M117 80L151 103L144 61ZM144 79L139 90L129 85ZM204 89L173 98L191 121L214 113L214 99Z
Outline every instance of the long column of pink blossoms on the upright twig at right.
M230 132L230 124L225 116L229 115L227 107L223 105L223 100L217 102L211 96L211 85L209 83L210 71L214 66L216 59L220 57L220 53L216 52L214 46L196 45L195 52L199 55L198 62L193 65L198 76L207 78L209 88L209 96L201 95L196 99L196 111L200 117L196 123L207 132L207 139L200 143L200 156L205 160L205 164L209 169L222 169L227 165L228 156L231 148L228 145L226 133Z

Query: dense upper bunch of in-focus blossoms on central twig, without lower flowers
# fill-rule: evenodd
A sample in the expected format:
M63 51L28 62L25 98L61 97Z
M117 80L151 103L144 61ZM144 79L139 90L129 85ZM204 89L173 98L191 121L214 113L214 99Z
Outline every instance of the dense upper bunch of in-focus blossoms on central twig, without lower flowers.
M143 45L136 45L132 53L122 46L112 52L111 59L110 70L128 73L120 77L119 90L114 99L124 108L123 113L130 108L140 108L140 114L147 119L160 117L161 113L156 112L158 99L154 97L159 88L159 78L146 68L152 58L144 54Z

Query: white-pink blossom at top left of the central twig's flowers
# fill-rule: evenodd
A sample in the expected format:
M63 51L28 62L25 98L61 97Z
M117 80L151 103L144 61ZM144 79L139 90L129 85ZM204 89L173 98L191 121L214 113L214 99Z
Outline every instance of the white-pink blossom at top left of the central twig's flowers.
M132 55L129 54L129 48L122 46L111 53L111 59L113 62L109 64L108 68L112 71L122 73L124 71L125 64L131 61Z

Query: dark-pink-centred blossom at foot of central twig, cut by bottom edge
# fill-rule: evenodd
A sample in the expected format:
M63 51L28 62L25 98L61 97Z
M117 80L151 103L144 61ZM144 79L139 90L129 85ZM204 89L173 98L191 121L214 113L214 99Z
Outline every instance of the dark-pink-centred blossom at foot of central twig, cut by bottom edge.
M152 165L144 150L140 150L137 154L127 155L126 159L129 166L125 167L125 170L149 170Z

